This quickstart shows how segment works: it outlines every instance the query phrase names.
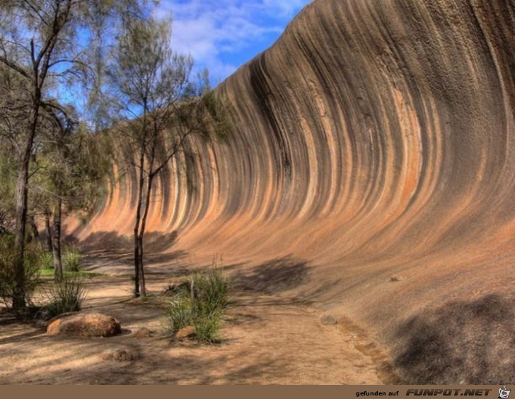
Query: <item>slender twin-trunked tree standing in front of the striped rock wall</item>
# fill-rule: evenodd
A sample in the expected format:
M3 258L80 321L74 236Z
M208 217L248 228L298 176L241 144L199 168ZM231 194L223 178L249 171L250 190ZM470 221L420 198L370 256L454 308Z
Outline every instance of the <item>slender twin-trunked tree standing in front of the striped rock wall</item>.
M192 58L173 53L170 25L152 18L127 24L109 73L123 115L133 118L118 131L129 145L127 163L137 175L134 296L146 295L143 241L156 177L187 151L190 136L223 134L223 107L209 87L190 81Z

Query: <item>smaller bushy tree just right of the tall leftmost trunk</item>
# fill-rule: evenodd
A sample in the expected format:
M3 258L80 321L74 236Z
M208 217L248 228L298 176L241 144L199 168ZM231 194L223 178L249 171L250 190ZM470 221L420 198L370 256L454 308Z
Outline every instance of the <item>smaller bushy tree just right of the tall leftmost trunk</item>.
M47 129L41 136L41 149L33 161L35 174L30 181L30 194L33 209L45 216L54 276L59 282L63 278L62 216L92 210L110 168L110 155L102 134L93 134L84 125Z

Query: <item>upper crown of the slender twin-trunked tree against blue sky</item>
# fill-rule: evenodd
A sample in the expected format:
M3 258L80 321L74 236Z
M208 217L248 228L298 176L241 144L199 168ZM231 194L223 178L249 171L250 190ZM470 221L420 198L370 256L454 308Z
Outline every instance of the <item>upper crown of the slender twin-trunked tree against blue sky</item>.
M192 69L192 58L175 54L170 47L170 22L132 19L112 54L108 77L116 93L113 100L125 118L143 122L141 129L149 127L147 117L158 123L158 130L166 126L172 111L167 107L181 98Z

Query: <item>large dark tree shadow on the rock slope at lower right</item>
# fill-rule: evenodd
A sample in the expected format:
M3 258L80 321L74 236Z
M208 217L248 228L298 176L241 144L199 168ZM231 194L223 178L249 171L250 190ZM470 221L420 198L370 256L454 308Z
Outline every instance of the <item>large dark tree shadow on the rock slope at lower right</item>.
M470 303L447 303L400 325L395 366L405 383L513 383L513 305L492 294Z

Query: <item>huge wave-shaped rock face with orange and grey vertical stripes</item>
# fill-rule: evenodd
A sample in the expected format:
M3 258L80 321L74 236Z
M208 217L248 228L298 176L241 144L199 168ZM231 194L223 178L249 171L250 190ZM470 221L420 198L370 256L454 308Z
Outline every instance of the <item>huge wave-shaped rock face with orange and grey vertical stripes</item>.
M306 269L298 295L390 344L439 306L506 303L514 32L511 0L313 1L220 86L231 139L195 144L193 185L177 168L161 180L150 230L178 231L174 249L199 257ZM130 234L134 188L115 189L86 233ZM480 309L491 323L508 311Z

